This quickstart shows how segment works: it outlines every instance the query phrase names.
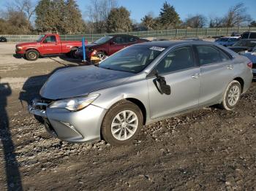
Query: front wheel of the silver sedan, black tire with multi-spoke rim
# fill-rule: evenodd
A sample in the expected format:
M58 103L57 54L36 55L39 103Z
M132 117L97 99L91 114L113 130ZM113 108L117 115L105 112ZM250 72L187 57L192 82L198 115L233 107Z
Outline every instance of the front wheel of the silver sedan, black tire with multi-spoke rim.
M140 108L130 101L121 101L105 115L101 128L102 139L116 147L127 145L140 133L142 126L143 114Z

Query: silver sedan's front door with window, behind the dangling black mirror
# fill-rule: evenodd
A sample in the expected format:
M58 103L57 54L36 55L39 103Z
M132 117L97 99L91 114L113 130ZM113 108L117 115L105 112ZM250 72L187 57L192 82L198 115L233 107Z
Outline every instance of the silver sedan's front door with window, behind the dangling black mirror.
M191 46L171 50L154 68L170 85L170 95L159 93L156 77L148 77L151 119L198 106L200 69ZM149 74L151 76L151 74Z

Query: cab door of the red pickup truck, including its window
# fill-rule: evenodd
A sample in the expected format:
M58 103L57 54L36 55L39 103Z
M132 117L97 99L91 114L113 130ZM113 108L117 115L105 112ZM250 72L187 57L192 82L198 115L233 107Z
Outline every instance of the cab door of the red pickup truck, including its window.
M43 55L54 55L61 53L61 43L57 42L56 36L47 36L41 43Z

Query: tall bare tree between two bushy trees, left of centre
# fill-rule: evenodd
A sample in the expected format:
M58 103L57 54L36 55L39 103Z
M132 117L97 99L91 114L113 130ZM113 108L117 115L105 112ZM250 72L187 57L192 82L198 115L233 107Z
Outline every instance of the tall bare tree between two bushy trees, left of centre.
M117 7L116 0L91 0L90 6L87 7L88 16L97 32L102 33L106 30L108 15L114 7Z

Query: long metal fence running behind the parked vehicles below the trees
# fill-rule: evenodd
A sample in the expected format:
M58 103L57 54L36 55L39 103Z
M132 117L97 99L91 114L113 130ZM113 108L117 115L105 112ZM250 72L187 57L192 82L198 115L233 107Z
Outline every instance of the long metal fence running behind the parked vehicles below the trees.
M256 28L185 28L185 29L167 29L159 31L135 31L127 33L114 34L130 34L139 36L140 38L170 38L183 39L192 37L212 37L212 36L230 36L233 32L243 33L245 31L256 31ZM105 35L113 34L67 34L60 35L63 41L81 41L83 37L88 42L94 42ZM0 35L5 36L8 42L33 42L36 41L39 35Z

